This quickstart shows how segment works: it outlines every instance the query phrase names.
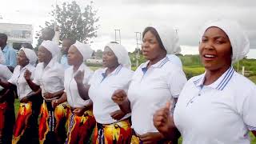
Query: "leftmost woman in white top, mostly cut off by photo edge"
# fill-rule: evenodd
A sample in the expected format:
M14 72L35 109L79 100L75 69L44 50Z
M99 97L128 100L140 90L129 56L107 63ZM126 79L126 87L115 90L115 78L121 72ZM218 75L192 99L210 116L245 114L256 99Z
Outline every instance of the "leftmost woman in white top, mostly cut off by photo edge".
M15 121L14 88L2 87L12 76L9 68L0 64L0 71L0 143L9 144Z

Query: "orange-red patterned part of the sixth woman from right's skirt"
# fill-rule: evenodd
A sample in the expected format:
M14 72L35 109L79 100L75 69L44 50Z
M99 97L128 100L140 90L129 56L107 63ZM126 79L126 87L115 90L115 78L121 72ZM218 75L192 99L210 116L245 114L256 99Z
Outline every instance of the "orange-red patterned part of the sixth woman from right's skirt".
M20 103L18 109L18 116L14 125L14 134L12 143L15 144L19 141L26 130L28 119L32 114L32 102Z

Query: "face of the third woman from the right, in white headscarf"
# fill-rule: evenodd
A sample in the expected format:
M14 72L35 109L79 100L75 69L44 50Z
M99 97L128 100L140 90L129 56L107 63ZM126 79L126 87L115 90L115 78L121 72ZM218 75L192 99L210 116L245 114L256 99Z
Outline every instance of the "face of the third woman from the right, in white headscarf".
M118 66L118 58L115 56L114 52L110 47L106 46L102 54L102 62L104 67L114 67Z

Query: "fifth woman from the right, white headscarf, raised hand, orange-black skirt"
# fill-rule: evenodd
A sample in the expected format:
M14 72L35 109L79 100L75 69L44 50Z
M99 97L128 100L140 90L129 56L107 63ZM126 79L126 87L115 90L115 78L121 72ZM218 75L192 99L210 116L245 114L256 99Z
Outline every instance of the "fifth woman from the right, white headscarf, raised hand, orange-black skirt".
M25 78L34 91L42 90L44 101L39 120L40 143L63 143L66 137L66 105L53 108L51 102L59 98L64 90L64 68L57 62L60 49L51 41L43 41L38 48L38 66L34 80L30 78L30 70L26 70Z

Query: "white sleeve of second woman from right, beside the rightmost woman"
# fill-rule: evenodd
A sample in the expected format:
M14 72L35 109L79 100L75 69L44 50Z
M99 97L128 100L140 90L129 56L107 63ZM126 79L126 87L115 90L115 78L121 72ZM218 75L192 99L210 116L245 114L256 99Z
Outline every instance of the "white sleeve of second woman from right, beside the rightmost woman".
M174 70L173 74L171 74L168 79L170 94L173 98L178 98L178 95L181 93L186 82L186 75L182 69Z

